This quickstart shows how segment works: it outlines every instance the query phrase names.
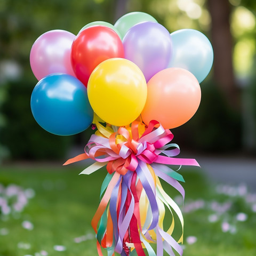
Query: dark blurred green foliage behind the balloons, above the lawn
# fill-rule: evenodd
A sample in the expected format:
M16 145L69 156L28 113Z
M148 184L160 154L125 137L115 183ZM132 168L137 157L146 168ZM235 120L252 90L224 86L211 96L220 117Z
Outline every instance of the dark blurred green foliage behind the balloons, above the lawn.
M213 26L226 26L232 36L228 49L232 55L233 81L226 89L218 76L222 53L216 47L215 67L201 84L202 103L187 124L173 129L181 148L200 151L255 152L255 2L218 0L219 13L227 6L227 21L211 22L212 0L86 0L31 1L2 0L0 3L0 158L54 159L63 157L77 144L84 145L90 129L68 138L47 134L33 119L30 95L37 83L30 66L29 52L38 36L52 29L77 34L87 23L104 20L110 23L126 12L143 11L155 17L170 33L182 28L202 31L213 42ZM218 3L219 2L219 3ZM211 7L211 8L210 8ZM218 10L218 9L217 9ZM226 22L226 23L225 23ZM218 34L217 34L218 35ZM219 34L221 35L221 34ZM225 46L226 47L226 46ZM223 51L223 49L222 49ZM225 69L227 67L220 67ZM215 71L214 71L215 70ZM226 76L233 76L230 72ZM235 98L234 98L235 94ZM217 143L219 141L219 143ZM221 143L220 143L221 141Z

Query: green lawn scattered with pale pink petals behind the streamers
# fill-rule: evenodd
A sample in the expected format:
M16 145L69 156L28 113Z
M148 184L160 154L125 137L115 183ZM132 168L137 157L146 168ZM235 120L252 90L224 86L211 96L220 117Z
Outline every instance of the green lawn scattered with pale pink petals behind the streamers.
M16 189L28 199L23 198L23 210L16 206L16 211L2 209L1 214L0 208L0 256L98 255L91 219L106 170L78 175L82 170L61 163L60 167L1 166L0 199L1 189L2 196L4 190L15 194ZM245 185L212 184L203 170L184 168L180 173L186 180L184 206L173 188L166 184L164 188L185 218L183 255L256 255L255 194ZM10 200L14 205L15 196ZM180 231L178 225L175 228Z

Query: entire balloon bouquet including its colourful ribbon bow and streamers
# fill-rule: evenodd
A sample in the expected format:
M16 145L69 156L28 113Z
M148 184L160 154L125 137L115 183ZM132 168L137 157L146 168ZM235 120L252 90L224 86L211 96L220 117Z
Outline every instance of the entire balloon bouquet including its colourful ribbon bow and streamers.
M143 256L145 250L149 256L161 256L164 250L182 255L182 213L159 178L184 198L182 175L167 165L198 163L175 157L180 149L170 143L169 129L195 114L199 83L212 62L211 43L201 32L181 29L170 34L142 12L128 13L114 26L89 23L77 36L48 31L32 46L30 64L39 82L31 110L37 123L57 135L73 135L91 124L98 129L85 153L65 165L93 159L82 174L106 166L92 219L99 255L101 247L108 256ZM166 211L172 221L164 228ZM176 214L182 227L178 241L172 237Z

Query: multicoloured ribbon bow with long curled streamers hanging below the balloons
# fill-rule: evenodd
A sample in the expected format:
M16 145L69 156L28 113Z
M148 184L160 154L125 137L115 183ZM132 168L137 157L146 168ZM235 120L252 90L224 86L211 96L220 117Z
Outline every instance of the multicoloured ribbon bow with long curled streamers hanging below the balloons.
M98 131L85 146L85 153L69 159L64 165L91 158L95 163L80 174L90 174L103 166L107 168L100 205L92 219L92 227L97 233L98 254L103 255L103 247L108 256L114 252L122 256L133 255L135 251L146 256L145 249L149 256L156 256L150 245L156 243L157 256L162 256L164 250L175 255L173 249L182 255L179 245L183 242L182 213L165 193L159 178L177 189L184 198L185 191L179 183L184 181L182 176L166 165L199 164L195 159L175 157L180 149L169 143L173 134L157 121L151 121L148 127L139 121L124 127L108 124L105 127L97 118L94 118L94 123ZM164 231L166 208L172 215L172 223ZM182 226L178 242L172 237L173 211Z

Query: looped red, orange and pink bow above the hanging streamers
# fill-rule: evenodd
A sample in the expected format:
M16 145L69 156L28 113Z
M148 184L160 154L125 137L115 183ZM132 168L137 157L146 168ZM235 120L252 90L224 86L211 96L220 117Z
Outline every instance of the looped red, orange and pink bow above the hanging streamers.
M155 128L156 125L159 125L158 128ZM124 141L116 143L117 134L122 135ZM177 145L168 144L172 139L170 130L164 130L157 121L151 121L138 140L131 138L124 127L119 127L118 132L111 134L109 139L94 134L85 146L85 154L97 162L108 162L107 171L110 174L117 171L124 175L128 170L135 171L138 159L147 164L199 166L195 159L174 158L180 150ZM169 147L174 149L167 150Z

